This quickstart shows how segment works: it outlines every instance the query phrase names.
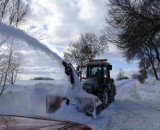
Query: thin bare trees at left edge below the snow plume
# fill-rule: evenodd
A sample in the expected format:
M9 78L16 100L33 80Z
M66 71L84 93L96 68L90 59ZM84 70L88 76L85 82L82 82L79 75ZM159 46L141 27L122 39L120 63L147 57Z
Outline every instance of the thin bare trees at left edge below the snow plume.
M14 44L9 43L8 47L4 49L5 52L3 57L1 57L0 62L0 95L3 94L5 90L6 83L14 84L17 73L19 71L21 65L21 55L17 53L17 49L15 50L13 47Z

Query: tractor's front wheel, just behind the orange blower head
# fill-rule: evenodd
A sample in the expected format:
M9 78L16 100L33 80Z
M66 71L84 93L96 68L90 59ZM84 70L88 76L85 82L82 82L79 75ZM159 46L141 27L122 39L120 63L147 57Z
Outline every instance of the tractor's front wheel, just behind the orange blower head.
M102 108L105 109L109 104L109 91L105 90L102 94Z

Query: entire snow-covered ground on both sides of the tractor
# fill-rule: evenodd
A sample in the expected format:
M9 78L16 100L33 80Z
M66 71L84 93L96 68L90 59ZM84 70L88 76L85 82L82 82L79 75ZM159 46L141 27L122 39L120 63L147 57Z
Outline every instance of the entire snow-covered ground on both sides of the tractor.
M115 81L115 102L95 119L65 104L55 114L47 114L45 97L64 94L67 81L20 81L0 97L0 114L60 118L86 124L94 130L160 130L160 81Z

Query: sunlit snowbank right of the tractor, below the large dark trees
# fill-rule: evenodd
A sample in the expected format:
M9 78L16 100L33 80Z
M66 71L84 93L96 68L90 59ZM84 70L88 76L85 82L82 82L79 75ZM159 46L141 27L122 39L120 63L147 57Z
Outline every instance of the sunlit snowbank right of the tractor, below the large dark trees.
M147 80L141 84L137 80L116 81L117 99L133 102L160 103L160 81Z

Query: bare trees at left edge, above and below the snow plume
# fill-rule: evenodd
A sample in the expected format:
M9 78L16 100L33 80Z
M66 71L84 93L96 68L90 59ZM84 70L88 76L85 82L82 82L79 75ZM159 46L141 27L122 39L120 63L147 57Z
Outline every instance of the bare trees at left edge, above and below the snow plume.
M30 0L0 0L0 22L19 28L26 22ZM0 38L0 96L6 82L13 84L17 77L20 59L15 55L19 45L5 35Z

